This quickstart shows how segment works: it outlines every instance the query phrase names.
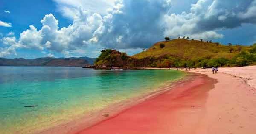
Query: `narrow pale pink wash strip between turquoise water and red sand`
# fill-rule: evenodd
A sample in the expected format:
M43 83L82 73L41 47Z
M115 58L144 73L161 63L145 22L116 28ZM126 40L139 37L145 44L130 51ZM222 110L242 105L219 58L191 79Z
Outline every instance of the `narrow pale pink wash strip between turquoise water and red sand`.
M74 134L78 131L83 130L84 128L88 128L99 122L108 120L109 118L116 116L120 112L125 111L126 109L129 109L132 106L142 103L143 101L148 100L150 98L154 98L155 96L160 95L163 92L169 91L170 89L173 89L175 86L190 81L191 79L191 73L184 73L184 76L182 78L179 78L172 82L166 82L165 84L163 84L163 86L158 87L156 91L145 93L144 95L140 95L138 97L131 98L128 100L123 100L119 103L111 104L110 106L107 106L106 108L101 109L98 112L90 112L81 115L77 117L75 120L57 123L57 125L54 125L55 123L52 123L52 127L42 129L39 131L35 130L35 133L33 134Z

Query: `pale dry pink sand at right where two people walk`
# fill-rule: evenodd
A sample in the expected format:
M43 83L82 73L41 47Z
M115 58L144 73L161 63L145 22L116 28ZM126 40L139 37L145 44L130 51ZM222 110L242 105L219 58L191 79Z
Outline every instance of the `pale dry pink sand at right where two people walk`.
M192 71L218 80L209 91L196 134L255 134L256 66L219 68L218 74L211 69Z

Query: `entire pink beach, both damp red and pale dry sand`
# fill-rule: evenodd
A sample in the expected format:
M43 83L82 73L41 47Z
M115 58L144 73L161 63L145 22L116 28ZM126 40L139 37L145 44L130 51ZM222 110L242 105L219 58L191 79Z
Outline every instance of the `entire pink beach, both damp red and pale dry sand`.
M209 78L199 75L76 134L255 134L255 70L191 70Z

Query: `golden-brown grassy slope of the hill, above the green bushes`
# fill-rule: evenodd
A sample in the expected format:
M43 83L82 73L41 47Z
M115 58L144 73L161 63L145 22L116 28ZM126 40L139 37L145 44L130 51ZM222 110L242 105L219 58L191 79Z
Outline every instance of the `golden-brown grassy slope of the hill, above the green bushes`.
M160 44L164 47L160 48ZM233 48L230 53L230 48ZM201 42L198 40L174 39L170 41L157 42L148 50L138 53L133 58L143 59L145 57L173 56L182 59L196 59L198 57L227 58L231 59L242 50L249 50L250 47L245 46L225 46L216 43Z

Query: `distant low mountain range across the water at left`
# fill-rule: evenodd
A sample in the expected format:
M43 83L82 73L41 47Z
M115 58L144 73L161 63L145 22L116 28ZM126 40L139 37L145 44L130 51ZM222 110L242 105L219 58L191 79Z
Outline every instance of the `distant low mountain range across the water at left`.
M0 58L0 66L76 66L84 67L93 65L96 58L89 57L71 57L71 58L36 58L36 59L6 59Z

